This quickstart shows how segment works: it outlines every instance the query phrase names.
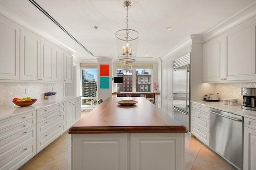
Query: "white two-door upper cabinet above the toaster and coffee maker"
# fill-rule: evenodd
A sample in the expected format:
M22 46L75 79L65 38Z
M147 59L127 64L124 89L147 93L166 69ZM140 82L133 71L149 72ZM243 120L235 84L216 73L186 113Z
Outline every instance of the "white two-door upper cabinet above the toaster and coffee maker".
M204 82L256 80L256 17L203 45Z

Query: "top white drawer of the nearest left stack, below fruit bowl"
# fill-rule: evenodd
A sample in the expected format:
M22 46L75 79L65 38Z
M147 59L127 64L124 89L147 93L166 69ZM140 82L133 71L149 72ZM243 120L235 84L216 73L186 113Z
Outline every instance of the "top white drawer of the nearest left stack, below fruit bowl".
M36 117L35 110L8 119L3 119L0 121L0 130L5 129L7 127L11 127L28 119L32 119L34 117Z

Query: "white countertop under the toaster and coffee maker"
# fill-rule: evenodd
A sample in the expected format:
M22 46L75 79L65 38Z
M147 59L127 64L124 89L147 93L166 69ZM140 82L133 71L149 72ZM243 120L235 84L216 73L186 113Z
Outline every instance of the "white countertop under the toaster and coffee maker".
M222 102L206 102L206 101L191 101L192 103L195 104L201 104L204 106L209 106L212 107L214 109L219 109L222 111L226 111L229 113L233 113L236 115L240 115L243 117L248 117L251 119L255 119L256 120L256 110L247 110L247 109L242 109L241 105L238 106L230 106L230 105L224 105L222 104Z

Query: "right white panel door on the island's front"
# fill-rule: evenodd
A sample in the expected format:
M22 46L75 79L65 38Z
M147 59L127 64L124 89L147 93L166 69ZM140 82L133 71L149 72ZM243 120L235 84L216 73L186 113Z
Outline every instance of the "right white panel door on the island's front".
M130 170L184 170L184 133L132 133Z

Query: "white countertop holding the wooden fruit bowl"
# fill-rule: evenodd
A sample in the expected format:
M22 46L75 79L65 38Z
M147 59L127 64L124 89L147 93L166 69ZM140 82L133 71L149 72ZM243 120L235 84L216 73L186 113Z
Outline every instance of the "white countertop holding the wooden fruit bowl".
M26 113L28 111L34 111L36 109L40 109L43 107L49 107L58 103L65 102L67 100L71 100L74 98L78 98L81 96L61 96L56 99L50 100L37 100L36 103L32 104L31 106L20 107L14 105L13 107L1 107L0 108L0 120L7 119L10 117L14 117L20 115L22 113Z

